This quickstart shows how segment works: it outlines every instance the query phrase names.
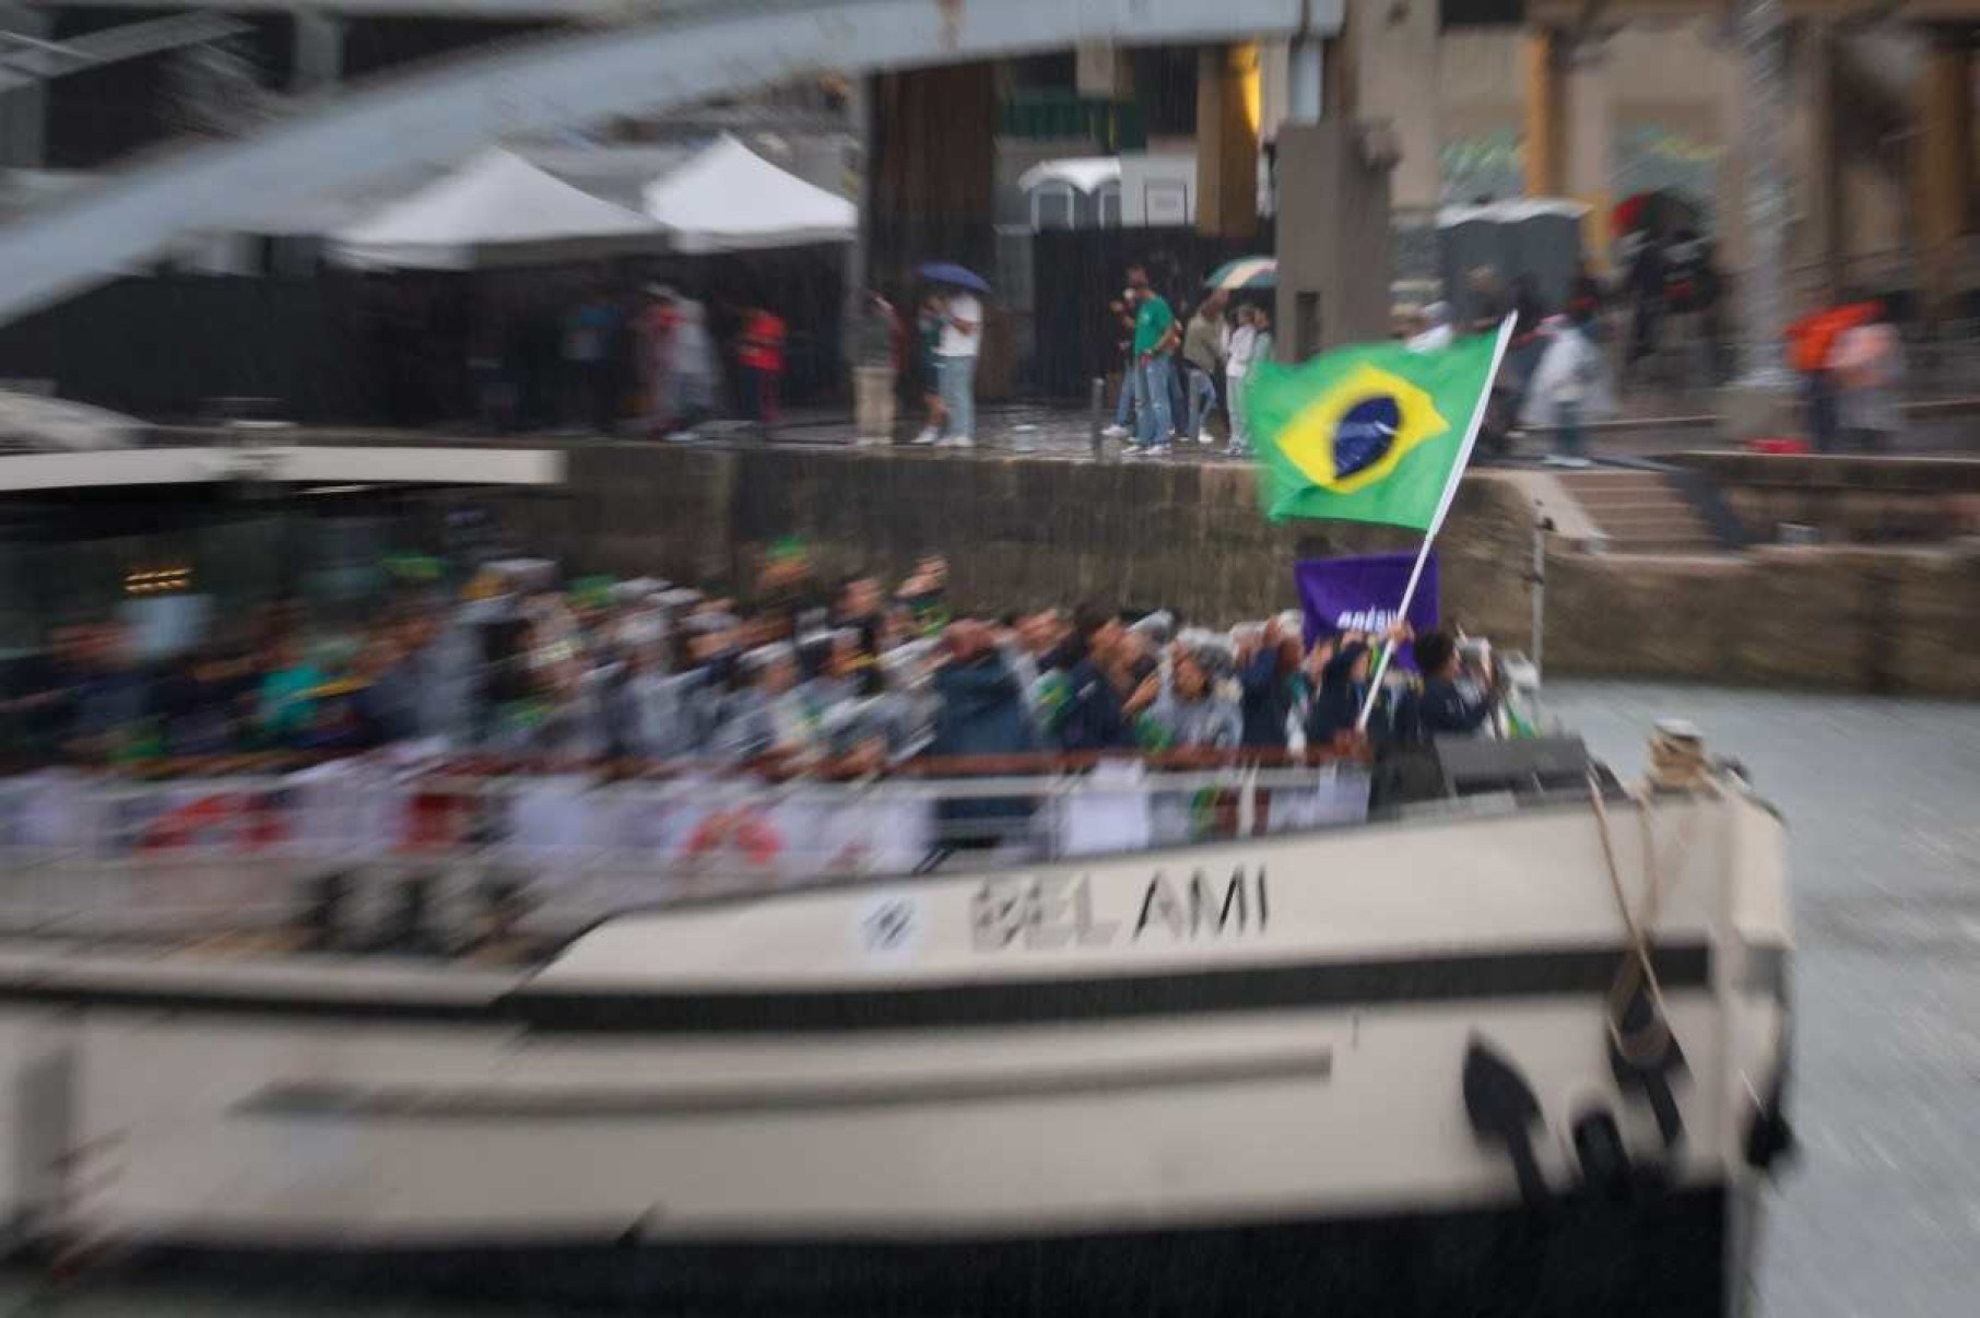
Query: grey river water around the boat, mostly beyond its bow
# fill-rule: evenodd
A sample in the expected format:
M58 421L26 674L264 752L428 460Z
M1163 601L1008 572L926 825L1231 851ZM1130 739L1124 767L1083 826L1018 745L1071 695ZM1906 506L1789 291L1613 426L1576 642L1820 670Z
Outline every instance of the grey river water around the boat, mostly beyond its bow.
M1768 1318L1980 1312L1980 705L1570 683L1550 705L1632 776L1663 714L1744 760L1794 833L1800 1162L1772 1195ZM1325 1310L1317 1296L1315 1312ZM0 1274L0 1316L511 1318Z

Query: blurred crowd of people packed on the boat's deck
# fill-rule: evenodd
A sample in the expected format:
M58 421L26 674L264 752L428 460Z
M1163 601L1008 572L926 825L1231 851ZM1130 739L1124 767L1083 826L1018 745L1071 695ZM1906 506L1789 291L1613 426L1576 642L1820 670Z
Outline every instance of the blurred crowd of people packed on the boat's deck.
M1370 703L1380 649L1414 641ZM1238 627L1079 606L950 610L948 566L891 588L822 582L770 552L748 600L657 580L556 586L537 560L459 598L410 592L352 627L269 606L172 659L79 619L16 661L0 724L16 762L432 744L562 762L760 760L881 770L913 756L1275 752L1473 732L1491 683L1449 633L1344 631L1301 615ZM1366 718L1362 712L1366 710Z

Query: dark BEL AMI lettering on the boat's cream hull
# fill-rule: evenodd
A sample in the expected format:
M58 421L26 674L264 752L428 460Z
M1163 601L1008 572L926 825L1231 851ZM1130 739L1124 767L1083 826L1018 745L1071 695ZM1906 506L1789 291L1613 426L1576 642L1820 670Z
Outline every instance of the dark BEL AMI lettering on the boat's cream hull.
M990 879L970 904L970 942L978 952L1006 948L1105 948L1148 940L1255 938L1271 920L1265 867L1238 867L1228 877L1156 871L1133 910L1101 910L1093 881L1075 877Z

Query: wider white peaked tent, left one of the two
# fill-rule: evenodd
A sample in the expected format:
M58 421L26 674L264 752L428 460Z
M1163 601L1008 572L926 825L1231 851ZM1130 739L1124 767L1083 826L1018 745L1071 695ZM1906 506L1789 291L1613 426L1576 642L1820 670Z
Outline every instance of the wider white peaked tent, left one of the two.
M663 237L645 216L572 188L511 150L459 170L331 235L345 265L475 269L645 251Z

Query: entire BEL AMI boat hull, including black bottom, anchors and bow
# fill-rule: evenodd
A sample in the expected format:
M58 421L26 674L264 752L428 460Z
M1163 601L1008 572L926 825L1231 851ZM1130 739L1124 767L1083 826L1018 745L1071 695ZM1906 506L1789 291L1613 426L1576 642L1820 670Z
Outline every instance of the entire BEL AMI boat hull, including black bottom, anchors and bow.
M1685 728L1635 788L1434 760L1297 831L685 885L525 964L10 916L0 1199L105 1267L649 1312L1744 1312L1782 819Z

